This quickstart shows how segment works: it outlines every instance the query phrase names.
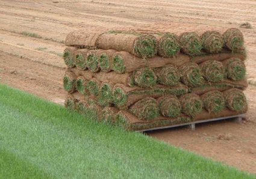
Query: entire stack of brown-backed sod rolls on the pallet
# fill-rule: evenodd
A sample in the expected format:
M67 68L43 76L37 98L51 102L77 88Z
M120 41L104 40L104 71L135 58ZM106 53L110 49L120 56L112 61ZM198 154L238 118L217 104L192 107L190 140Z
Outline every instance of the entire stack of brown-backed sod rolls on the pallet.
M73 31L65 106L106 124L145 130L244 114L243 34Z

